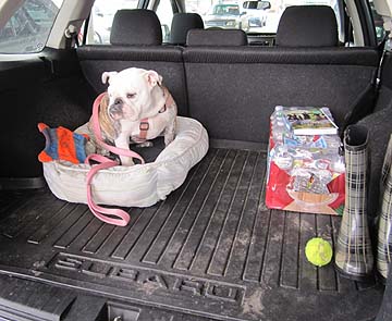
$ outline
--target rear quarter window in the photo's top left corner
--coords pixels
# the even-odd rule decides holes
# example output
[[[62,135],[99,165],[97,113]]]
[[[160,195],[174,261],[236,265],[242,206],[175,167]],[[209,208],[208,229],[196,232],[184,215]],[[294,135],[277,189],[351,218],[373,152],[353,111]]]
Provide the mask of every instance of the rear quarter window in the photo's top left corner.
[[[62,0],[26,0],[0,29],[0,53],[44,49]]]

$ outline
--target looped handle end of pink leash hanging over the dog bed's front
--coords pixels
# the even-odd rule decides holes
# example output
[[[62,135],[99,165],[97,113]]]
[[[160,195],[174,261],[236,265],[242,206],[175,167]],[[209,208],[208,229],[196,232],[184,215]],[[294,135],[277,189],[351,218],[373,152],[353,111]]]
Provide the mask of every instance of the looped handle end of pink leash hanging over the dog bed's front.
[[[93,200],[93,192],[91,192],[93,176],[98,171],[109,169],[112,166],[117,166],[119,163],[117,161],[106,158],[105,156],[96,155],[96,153],[89,155],[86,158],[85,163],[89,163],[90,160],[95,160],[95,161],[99,162],[99,164],[93,165],[87,174],[88,208],[90,209],[93,214],[96,215],[99,220],[101,220],[106,223],[109,223],[109,224],[113,224],[113,225],[118,225],[118,226],[125,226],[130,222],[130,214],[121,209],[108,209],[108,208],[103,208],[103,207],[96,205]],[[115,217],[117,219],[110,218],[107,215]]]

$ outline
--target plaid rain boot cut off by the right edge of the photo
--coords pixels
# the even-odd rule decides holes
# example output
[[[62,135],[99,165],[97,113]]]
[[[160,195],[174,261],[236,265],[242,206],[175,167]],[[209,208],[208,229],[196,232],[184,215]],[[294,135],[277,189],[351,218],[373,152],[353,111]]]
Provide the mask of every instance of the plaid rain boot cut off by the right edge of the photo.
[[[388,266],[391,262],[392,250],[392,136],[388,143],[385,158],[381,171],[382,195],[381,211],[378,222],[378,244],[377,244],[377,270],[387,279]]]

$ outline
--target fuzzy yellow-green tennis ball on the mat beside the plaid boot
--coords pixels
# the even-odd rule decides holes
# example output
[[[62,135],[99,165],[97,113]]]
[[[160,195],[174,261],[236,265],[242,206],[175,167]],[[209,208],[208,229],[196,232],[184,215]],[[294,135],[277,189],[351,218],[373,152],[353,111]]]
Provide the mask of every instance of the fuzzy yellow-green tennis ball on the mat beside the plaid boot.
[[[327,266],[332,259],[332,247],[321,237],[314,237],[306,244],[305,255],[311,264]]]

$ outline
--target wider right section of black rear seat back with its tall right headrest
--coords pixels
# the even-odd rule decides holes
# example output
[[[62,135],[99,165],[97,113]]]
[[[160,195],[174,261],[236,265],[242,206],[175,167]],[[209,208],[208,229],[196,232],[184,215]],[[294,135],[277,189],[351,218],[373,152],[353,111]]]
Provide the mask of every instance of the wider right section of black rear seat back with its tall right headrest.
[[[305,15],[315,13],[317,21],[306,18],[302,9]],[[274,48],[185,48],[191,116],[204,123],[213,138],[261,143],[268,143],[269,115],[278,104],[327,106],[342,124],[375,79],[378,52],[336,47],[331,11],[323,7],[290,9],[281,18]],[[301,25],[298,36],[290,28],[292,22]]]

